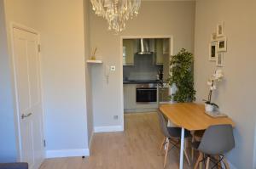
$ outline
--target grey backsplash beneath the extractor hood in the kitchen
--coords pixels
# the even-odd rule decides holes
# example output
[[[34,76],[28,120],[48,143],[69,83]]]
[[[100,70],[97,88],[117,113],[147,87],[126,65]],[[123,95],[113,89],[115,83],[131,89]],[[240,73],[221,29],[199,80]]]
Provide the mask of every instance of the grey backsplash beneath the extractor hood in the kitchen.
[[[155,65],[154,54],[135,54],[134,65],[124,66],[125,80],[155,80],[163,65]]]

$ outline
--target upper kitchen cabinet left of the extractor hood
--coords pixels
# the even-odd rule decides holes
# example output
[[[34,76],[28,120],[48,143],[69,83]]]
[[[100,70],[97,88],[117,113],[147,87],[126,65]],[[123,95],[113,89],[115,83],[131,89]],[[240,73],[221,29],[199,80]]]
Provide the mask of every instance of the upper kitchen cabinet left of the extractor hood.
[[[134,54],[136,53],[137,42],[134,39],[123,40],[123,65],[134,65]]]

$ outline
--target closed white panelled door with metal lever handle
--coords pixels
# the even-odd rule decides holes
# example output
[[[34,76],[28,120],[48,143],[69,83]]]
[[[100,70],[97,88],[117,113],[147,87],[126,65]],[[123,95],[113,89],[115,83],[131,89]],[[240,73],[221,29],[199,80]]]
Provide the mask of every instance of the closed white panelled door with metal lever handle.
[[[20,160],[28,162],[30,169],[38,169],[44,161],[38,35],[17,28],[13,35]]]

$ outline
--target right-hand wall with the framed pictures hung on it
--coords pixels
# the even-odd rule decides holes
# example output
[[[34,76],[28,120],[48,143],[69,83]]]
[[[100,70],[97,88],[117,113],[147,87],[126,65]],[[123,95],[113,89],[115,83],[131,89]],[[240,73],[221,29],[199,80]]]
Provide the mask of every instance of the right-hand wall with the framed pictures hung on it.
[[[236,123],[236,148],[228,160],[236,168],[253,168],[256,97],[256,2],[254,0],[198,0],[195,14],[195,89],[198,102],[207,98],[207,79],[216,69],[208,61],[210,35],[224,21],[228,52],[224,54],[224,82],[213,101]],[[255,166],[254,166],[255,168]]]

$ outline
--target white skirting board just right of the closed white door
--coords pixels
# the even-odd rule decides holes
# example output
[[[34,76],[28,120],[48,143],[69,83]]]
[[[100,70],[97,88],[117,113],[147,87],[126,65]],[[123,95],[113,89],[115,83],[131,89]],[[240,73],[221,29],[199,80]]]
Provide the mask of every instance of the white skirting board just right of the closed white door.
[[[46,158],[90,156],[89,149],[60,149],[46,150]]]

